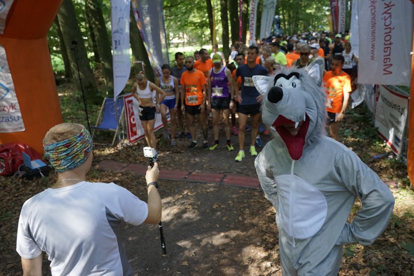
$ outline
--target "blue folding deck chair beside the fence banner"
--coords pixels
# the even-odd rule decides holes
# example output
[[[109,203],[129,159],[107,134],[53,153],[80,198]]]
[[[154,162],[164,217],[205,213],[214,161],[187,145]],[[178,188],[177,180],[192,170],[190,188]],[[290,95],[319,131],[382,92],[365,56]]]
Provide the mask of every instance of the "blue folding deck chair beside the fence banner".
[[[102,112],[104,111],[104,117],[102,118]],[[123,97],[117,99],[117,112],[115,113],[115,101],[112,98],[105,98],[101,106],[101,111],[99,112],[98,119],[96,120],[95,126],[91,126],[92,138],[95,134],[95,130],[109,130],[114,131],[114,138],[112,139],[111,146],[114,145],[115,139],[122,123],[122,118],[124,114],[123,106]],[[98,126],[99,124],[99,126]],[[99,143],[95,143],[99,144]],[[102,144],[102,143],[101,143]]]

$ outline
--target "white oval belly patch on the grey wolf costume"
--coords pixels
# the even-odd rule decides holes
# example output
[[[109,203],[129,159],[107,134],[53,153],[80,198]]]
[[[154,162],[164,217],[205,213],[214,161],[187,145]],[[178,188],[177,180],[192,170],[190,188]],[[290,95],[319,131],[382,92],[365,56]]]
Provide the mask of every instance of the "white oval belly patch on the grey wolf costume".
[[[314,236],[325,223],[328,203],[325,196],[306,180],[296,175],[275,177],[278,194],[279,227],[295,239]]]

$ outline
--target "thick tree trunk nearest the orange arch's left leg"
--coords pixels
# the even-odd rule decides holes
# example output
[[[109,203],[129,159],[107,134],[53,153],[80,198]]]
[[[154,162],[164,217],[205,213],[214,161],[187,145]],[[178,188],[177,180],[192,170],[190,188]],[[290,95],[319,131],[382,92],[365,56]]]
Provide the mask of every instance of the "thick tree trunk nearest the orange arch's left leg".
[[[73,72],[77,88],[84,91],[86,100],[89,103],[101,104],[103,99],[102,97],[97,97],[98,88],[87,59],[85,43],[79,29],[72,1],[63,0],[57,14],[69,56],[70,69]],[[78,73],[80,77],[78,77]]]

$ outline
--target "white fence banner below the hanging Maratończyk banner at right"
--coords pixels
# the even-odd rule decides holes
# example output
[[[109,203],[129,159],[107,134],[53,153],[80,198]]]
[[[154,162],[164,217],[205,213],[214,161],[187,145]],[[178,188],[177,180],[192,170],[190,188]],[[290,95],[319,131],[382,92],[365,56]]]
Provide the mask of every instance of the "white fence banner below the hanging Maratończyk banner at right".
[[[378,134],[387,141],[399,157],[404,141],[404,129],[408,117],[408,96],[401,95],[387,86],[377,86],[375,126]]]

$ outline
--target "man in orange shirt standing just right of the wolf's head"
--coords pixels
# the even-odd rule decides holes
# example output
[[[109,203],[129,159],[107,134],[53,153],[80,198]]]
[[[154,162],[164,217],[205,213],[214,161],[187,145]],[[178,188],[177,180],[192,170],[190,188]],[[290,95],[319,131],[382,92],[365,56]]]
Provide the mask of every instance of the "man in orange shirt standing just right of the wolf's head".
[[[324,77],[323,82],[328,94],[327,111],[329,120],[329,133],[338,141],[338,124],[344,119],[346,106],[348,105],[351,90],[351,78],[342,70],[345,59],[342,55],[332,56],[331,67]]]

